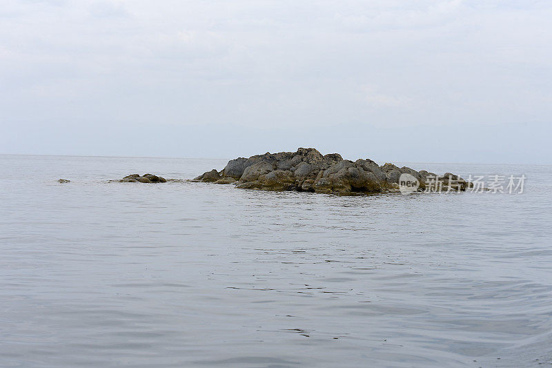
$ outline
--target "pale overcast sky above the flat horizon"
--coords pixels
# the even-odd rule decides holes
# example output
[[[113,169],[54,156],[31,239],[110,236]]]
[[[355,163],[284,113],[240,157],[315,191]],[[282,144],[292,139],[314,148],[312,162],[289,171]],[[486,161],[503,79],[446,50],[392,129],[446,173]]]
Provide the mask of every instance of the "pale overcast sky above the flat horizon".
[[[0,153],[552,162],[552,1],[8,0]]]

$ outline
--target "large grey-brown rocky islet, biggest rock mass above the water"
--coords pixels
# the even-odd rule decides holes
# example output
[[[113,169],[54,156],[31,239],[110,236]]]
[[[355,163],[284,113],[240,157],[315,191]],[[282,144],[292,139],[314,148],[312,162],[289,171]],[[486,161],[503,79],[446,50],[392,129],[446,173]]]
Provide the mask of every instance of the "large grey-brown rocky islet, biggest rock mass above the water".
[[[337,153],[322,155],[315,148],[239,157],[230,160],[223,170],[213,169],[199,175],[193,182],[234,183],[237,188],[270,191],[385,193],[399,190],[398,183],[404,173],[412,175],[419,182],[418,191],[426,190],[433,178],[442,180],[441,188],[445,189],[454,186],[455,190],[465,191],[471,184],[452,173],[437,176],[406,166],[378,166],[371,159],[357,159],[353,162]]]

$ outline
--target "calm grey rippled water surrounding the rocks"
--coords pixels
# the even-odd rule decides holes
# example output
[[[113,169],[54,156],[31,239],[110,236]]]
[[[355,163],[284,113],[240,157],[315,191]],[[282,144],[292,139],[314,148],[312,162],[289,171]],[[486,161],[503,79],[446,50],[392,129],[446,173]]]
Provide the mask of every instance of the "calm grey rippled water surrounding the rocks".
[[[522,194],[107,182],[226,161],[0,155],[0,366],[552,362],[552,166],[408,164]]]

